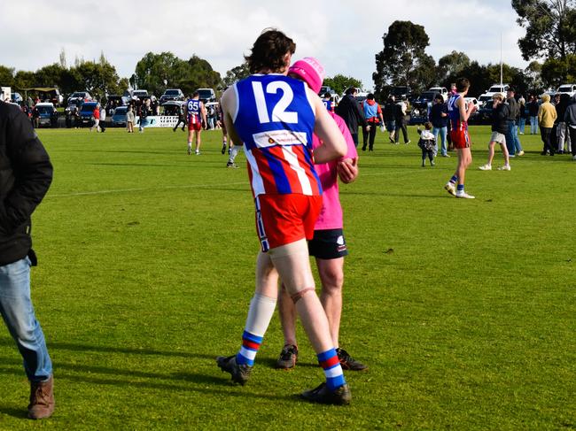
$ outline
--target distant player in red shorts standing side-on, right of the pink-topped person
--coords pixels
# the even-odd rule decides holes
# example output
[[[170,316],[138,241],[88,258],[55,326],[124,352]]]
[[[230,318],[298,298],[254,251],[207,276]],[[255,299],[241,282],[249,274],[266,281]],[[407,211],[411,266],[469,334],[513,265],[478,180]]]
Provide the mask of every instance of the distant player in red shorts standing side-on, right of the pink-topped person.
[[[459,78],[456,81],[456,93],[448,99],[448,118],[450,119],[450,137],[458,153],[458,166],[452,178],[446,183],[444,189],[450,195],[474,199],[464,191],[464,175],[466,169],[472,163],[471,140],[468,135],[468,119],[471,113],[476,110],[472,102],[466,104],[464,97],[470,89],[470,81],[466,78]],[[457,183],[457,186],[456,186]]]

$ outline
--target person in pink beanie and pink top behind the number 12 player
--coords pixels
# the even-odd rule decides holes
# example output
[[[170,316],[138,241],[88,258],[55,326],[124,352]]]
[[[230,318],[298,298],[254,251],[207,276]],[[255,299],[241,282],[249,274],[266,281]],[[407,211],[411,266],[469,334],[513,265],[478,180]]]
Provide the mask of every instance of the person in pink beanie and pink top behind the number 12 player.
[[[323,83],[324,69],[315,58],[302,58],[288,70],[292,78],[305,81],[310,89],[317,93]],[[344,284],[344,257],[348,254],[343,233],[343,214],[339,198],[340,181],[349,183],[358,175],[358,153],[354,140],[344,119],[330,112],[342,135],[346,139],[348,152],[346,157],[329,163],[315,165],[323,189],[323,208],[316,220],[314,238],[308,242],[308,252],[314,256],[322,292],[320,300],[328,317],[332,342],[336,346],[340,365],[345,370],[361,371],[367,366],[352,358],[339,347],[340,316],[342,314],[342,286]],[[313,148],[320,145],[314,135]],[[296,341],[296,311],[284,286],[278,296],[278,312],[284,332],[284,348],[276,362],[281,369],[291,369],[298,360],[298,342]]]

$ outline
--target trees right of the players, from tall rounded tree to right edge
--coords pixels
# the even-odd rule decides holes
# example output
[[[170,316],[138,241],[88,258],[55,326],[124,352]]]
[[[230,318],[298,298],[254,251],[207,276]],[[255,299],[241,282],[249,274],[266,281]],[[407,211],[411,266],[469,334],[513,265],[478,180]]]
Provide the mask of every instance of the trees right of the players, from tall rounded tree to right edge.
[[[511,4],[518,25],[526,30],[518,47],[531,63],[525,69],[504,64],[503,81],[521,93],[576,81],[576,0],[512,0]],[[384,48],[376,54],[372,73],[380,99],[393,86],[420,92],[438,84],[448,87],[458,76],[471,81],[471,96],[479,96],[500,81],[500,64],[480,65],[463,52],[452,51],[436,64],[425,52],[430,39],[424,27],[411,21],[394,21],[382,40]],[[494,57],[498,54],[494,50]]]

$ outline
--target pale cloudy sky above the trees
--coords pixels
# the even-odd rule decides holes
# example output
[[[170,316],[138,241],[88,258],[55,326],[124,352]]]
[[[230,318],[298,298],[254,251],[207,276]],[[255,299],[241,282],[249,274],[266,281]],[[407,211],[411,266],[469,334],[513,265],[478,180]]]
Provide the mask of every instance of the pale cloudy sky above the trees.
[[[527,64],[518,50],[525,31],[510,0],[19,0],[4,2],[2,9],[0,65],[17,70],[57,62],[62,49],[68,64],[104,51],[129,77],[146,52],[171,51],[206,58],[224,75],[242,63],[263,28],[276,27],[296,42],[296,58],[316,57],[329,76],[353,76],[371,89],[374,56],[396,19],[424,26],[427,52],[436,60],[461,50],[481,64],[499,63],[502,35],[504,61]]]

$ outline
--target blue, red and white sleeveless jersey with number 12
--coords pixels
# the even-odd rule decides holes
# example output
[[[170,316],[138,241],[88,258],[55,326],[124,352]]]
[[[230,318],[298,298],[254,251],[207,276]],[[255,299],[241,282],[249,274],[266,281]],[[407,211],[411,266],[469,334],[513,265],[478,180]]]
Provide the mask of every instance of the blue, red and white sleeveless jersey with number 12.
[[[253,74],[234,90],[234,127],[244,142],[253,196],[322,195],[312,160],[315,113],[306,84],[282,74]]]

